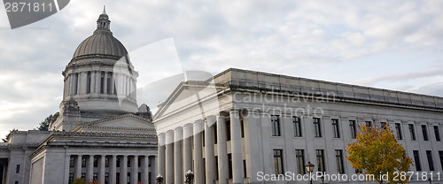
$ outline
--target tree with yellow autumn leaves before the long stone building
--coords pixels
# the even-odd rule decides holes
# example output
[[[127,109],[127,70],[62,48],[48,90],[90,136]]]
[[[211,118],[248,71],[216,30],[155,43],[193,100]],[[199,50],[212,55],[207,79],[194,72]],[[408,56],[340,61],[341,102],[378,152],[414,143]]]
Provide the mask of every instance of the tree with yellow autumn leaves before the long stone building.
[[[363,125],[360,133],[356,142],[350,143],[346,149],[346,159],[351,165],[364,174],[372,174],[380,184],[408,183],[409,177],[400,177],[400,173],[394,172],[408,173],[409,165],[413,165],[412,159],[397,142],[392,129],[389,126],[382,128]],[[394,177],[396,175],[399,177]]]

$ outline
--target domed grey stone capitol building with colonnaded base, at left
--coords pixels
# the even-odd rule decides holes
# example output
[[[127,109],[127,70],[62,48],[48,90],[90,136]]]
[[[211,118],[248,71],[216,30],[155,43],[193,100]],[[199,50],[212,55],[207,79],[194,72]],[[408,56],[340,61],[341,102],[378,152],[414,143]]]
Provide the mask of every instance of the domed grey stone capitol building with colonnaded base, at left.
[[[16,131],[0,145],[1,183],[153,183],[157,136],[138,73],[104,12],[63,71],[64,94],[49,131]]]

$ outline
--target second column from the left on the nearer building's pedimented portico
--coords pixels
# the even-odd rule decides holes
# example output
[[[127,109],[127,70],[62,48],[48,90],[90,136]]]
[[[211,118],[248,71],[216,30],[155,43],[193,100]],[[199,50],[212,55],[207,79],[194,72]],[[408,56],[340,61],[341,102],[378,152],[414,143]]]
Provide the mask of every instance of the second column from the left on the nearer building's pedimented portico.
[[[165,183],[174,183],[174,131],[168,130],[166,133],[166,176]]]

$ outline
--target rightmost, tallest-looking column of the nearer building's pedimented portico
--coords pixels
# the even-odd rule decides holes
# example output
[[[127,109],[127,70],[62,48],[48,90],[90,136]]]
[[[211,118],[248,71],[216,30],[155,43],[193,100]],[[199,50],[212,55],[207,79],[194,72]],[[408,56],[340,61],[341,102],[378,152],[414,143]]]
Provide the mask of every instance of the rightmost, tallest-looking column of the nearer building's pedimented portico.
[[[232,182],[243,183],[243,161],[242,161],[242,140],[240,136],[240,117],[238,110],[232,109],[230,112],[230,133],[232,152]]]

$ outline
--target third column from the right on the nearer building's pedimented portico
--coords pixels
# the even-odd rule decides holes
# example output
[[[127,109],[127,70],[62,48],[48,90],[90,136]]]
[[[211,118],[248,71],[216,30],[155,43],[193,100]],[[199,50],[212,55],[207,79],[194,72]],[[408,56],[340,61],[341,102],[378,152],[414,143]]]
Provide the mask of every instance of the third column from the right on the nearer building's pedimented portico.
[[[213,125],[215,117],[211,116],[205,122],[205,160],[206,160],[206,183],[214,183],[214,141]]]

